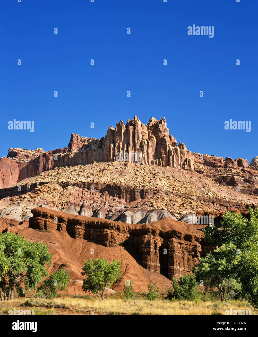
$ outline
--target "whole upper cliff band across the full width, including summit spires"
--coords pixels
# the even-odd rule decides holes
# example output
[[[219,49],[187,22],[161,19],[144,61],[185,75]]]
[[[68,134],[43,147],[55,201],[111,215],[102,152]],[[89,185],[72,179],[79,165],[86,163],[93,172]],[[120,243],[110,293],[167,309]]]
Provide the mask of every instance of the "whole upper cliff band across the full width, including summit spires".
[[[152,117],[148,124],[133,120],[109,127],[101,139],[71,134],[68,147],[44,152],[9,149],[7,158],[0,158],[0,188],[34,177],[53,167],[112,162],[117,159],[131,163],[183,168],[205,175],[221,185],[240,187],[240,192],[258,195],[257,157],[249,164],[246,159],[223,159],[214,155],[192,154],[177,142],[166,127],[165,118]],[[201,187],[200,187],[201,188]]]

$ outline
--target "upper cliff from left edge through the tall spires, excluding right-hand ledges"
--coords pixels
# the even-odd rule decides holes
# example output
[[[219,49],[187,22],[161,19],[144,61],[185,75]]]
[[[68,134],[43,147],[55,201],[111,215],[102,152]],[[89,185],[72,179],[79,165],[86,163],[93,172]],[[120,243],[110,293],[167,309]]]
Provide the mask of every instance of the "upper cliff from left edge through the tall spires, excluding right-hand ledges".
[[[120,154],[120,158],[119,155]],[[169,135],[165,118],[151,118],[147,125],[134,116],[133,120],[109,127],[101,139],[71,134],[68,147],[44,152],[9,149],[7,158],[0,158],[0,188],[9,187],[28,177],[34,177],[52,167],[108,162],[119,159],[128,162],[180,167],[193,170],[194,156],[185,145],[177,146]]]

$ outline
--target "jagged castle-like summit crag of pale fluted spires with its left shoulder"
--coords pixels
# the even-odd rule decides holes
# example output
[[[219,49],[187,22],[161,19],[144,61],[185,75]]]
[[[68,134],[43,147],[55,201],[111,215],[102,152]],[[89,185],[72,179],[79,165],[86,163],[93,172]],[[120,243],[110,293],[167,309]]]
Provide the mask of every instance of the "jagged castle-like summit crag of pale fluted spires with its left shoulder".
[[[118,160],[193,170],[194,163],[194,156],[186,146],[183,143],[177,146],[175,138],[169,135],[164,117],[160,121],[152,117],[145,125],[134,116],[126,124],[120,121],[115,128],[109,127],[106,137],[101,139],[85,139],[72,134],[70,149],[70,152],[58,156],[54,165]]]

